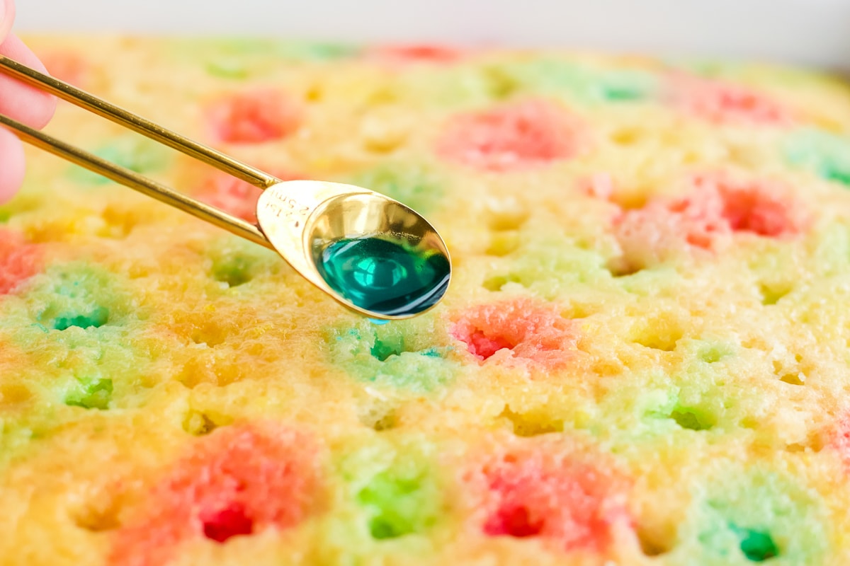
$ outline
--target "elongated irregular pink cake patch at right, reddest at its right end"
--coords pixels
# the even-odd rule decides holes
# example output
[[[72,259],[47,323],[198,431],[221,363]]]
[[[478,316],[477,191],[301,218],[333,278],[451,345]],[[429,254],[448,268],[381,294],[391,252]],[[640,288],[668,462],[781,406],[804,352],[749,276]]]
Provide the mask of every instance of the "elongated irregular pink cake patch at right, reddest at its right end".
[[[633,267],[676,250],[717,250],[733,233],[788,238],[808,227],[806,207],[775,182],[740,182],[723,175],[694,177],[684,197],[652,199],[615,220],[615,236]]]

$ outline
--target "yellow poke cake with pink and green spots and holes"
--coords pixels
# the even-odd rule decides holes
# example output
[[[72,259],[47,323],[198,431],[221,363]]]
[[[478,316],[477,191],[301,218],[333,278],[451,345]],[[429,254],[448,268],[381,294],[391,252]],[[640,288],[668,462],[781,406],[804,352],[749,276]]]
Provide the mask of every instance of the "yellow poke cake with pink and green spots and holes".
[[[28,150],[0,206],[0,563],[850,563],[850,89],[555,50],[31,36],[55,76],[445,238],[376,324]],[[258,189],[60,105],[245,218]]]

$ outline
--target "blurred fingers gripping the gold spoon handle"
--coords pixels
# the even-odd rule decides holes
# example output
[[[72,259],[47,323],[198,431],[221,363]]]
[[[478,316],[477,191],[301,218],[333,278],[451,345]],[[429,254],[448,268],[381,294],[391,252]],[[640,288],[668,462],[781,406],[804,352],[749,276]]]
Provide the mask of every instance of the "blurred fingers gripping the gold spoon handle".
[[[14,0],[0,0],[0,55],[46,72],[35,53],[10,33],[13,21]],[[53,117],[54,109],[54,97],[0,75],[0,114],[41,128]],[[23,179],[23,145],[12,132],[0,127],[0,203],[12,198]]]

